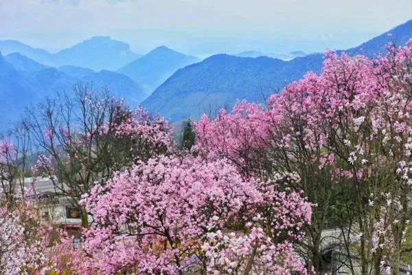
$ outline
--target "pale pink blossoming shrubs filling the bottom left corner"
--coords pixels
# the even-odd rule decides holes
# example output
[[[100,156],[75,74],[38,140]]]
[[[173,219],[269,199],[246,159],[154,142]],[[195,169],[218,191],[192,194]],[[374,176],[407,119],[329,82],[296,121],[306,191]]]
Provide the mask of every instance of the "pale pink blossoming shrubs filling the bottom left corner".
[[[93,274],[71,239],[42,220],[36,203],[0,207],[0,274]]]

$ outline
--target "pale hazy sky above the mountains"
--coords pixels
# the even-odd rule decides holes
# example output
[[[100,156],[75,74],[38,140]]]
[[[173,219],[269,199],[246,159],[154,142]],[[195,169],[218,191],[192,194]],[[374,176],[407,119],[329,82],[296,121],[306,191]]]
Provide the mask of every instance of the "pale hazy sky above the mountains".
[[[0,0],[0,39],[56,52],[91,36],[205,56],[356,46],[412,18],[412,0]]]

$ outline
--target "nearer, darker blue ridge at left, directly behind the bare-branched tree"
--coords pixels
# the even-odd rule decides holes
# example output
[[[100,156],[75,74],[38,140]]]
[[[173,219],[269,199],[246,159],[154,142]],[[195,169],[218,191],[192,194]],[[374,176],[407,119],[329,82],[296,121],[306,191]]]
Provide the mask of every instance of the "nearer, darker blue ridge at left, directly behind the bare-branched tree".
[[[149,96],[149,91],[124,74],[75,66],[47,67],[21,54],[0,53],[0,109],[3,110],[0,130],[19,119],[29,104],[36,104],[57,92],[71,93],[78,82],[93,83],[96,89],[108,87],[115,98],[124,98],[136,106]]]

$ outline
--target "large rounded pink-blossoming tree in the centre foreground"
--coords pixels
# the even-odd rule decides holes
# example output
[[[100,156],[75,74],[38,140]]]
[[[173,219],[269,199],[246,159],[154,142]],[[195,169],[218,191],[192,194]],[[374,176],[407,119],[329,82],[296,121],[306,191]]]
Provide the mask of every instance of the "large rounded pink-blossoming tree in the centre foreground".
[[[262,263],[268,271],[303,272],[290,242],[304,236],[310,204],[275,181],[245,181],[225,159],[150,159],[95,186],[84,202],[94,217],[85,233],[89,265],[106,274],[183,274],[192,261],[204,272],[238,265],[230,274],[240,274],[252,265],[249,274],[260,274]],[[212,236],[229,241],[222,234],[249,240],[243,256],[254,251],[253,259],[233,256],[233,238],[216,245]],[[216,265],[216,253],[227,257],[225,265]]]

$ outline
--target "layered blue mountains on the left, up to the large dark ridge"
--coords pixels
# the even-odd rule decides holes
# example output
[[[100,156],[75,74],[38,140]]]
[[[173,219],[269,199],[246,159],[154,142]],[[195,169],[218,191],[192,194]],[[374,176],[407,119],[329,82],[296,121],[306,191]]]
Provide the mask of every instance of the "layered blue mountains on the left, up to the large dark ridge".
[[[96,89],[106,86],[113,96],[136,106],[176,69],[198,61],[165,46],[139,56],[126,43],[106,36],[95,36],[56,54],[19,41],[0,41],[0,50],[4,50],[0,52],[0,107],[7,110],[0,129],[17,120],[28,104],[57,92],[70,93],[78,82],[93,82]],[[137,81],[122,70],[113,72],[119,67]]]

